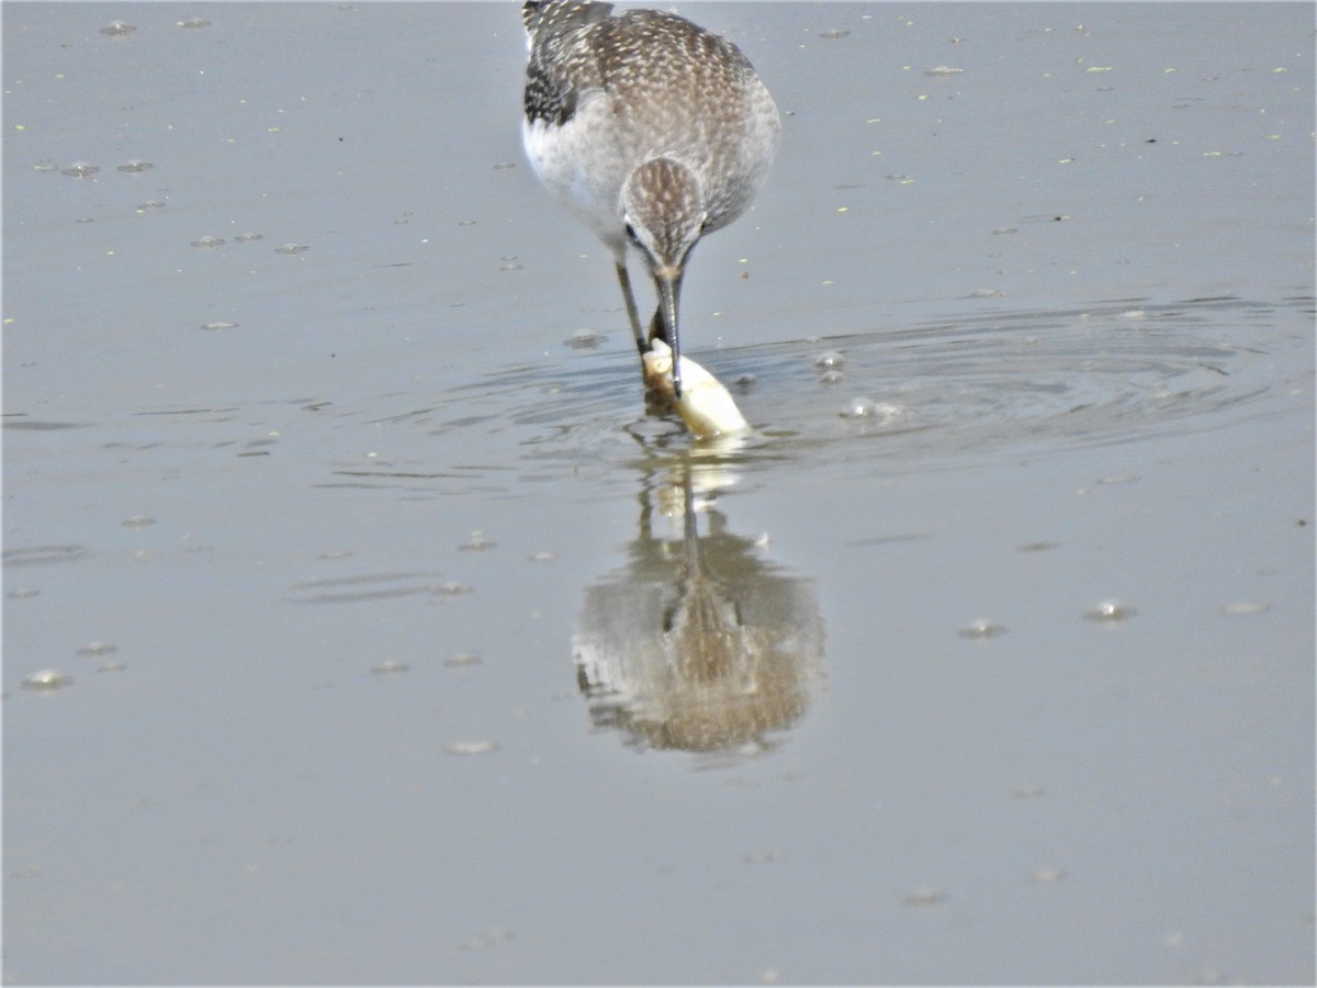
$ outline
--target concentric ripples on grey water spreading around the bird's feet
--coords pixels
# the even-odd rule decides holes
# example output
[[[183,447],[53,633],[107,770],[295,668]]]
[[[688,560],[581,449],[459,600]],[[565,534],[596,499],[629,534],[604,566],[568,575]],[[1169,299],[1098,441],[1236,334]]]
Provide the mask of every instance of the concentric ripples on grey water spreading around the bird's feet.
[[[1113,302],[1001,312],[699,354],[756,427],[747,457],[863,444],[909,461],[1047,454],[1222,428],[1288,407],[1309,365],[1312,299]],[[820,379],[819,361],[840,378]],[[510,368],[469,386],[471,427],[531,427],[531,457],[615,458],[690,441],[647,419],[630,352]],[[1277,369],[1283,373],[1277,373]],[[1289,379],[1287,375],[1292,375]],[[502,407],[498,407],[502,406]],[[882,414],[860,414],[877,410]],[[849,454],[848,454],[849,456]]]

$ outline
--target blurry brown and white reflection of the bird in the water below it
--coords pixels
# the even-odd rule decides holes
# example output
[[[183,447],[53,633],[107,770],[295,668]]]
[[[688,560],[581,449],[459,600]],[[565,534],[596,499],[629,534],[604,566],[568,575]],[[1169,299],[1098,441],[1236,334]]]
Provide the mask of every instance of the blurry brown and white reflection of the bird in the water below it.
[[[586,591],[577,681],[599,727],[639,748],[749,752],[809,705],[823,622],[809,580],[760,557],[711,503],[726,462],[690,454],[647,477],[622,572]],[[681,519],[665,539],[656,523]],[[699,534],[701,518],[707,531]]]

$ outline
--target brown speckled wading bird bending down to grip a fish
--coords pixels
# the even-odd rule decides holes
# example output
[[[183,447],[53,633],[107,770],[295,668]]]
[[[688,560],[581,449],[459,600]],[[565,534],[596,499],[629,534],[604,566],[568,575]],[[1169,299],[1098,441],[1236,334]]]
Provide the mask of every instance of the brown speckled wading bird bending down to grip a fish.
[[[527,0],[525,153],[540,182],[612,252],[636,346],[662,339],[681,395],[677,312],[699,238],[735,220],[777,151],[777,105],[730,41],[658,11]],[[627,249],[658,294],[640,328]]]

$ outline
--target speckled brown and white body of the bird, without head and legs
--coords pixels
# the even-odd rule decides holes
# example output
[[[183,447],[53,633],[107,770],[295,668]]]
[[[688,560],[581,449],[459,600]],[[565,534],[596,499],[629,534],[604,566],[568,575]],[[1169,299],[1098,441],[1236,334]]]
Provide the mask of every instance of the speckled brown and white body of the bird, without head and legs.
[[[777,150],[772,96],[735,45],[690,21],[657,11],[610,14],[608,4],[576,0],[523,8],[536,171],[606,241],[623,182],[656,157],[695,174],[706,232],[731,223]]]

